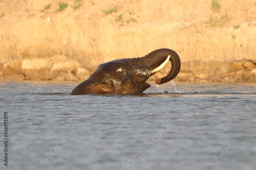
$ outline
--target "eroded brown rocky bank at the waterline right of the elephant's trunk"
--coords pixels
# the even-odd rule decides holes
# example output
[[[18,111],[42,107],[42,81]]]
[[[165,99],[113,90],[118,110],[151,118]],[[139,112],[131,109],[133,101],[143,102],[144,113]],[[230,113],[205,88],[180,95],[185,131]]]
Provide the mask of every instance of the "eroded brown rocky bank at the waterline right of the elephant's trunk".
[[[211,68],[210,66],[215,66]],[[185,82],[256,82],[254,72],[256,64],[251,60],[239,60],[228,63],[202,63],[205,68],[181,68],[180,74],[177,76],[178,81]],[[189,66],[186,66],[189,68]],[[190,66],[191,68],[191,66]]]

